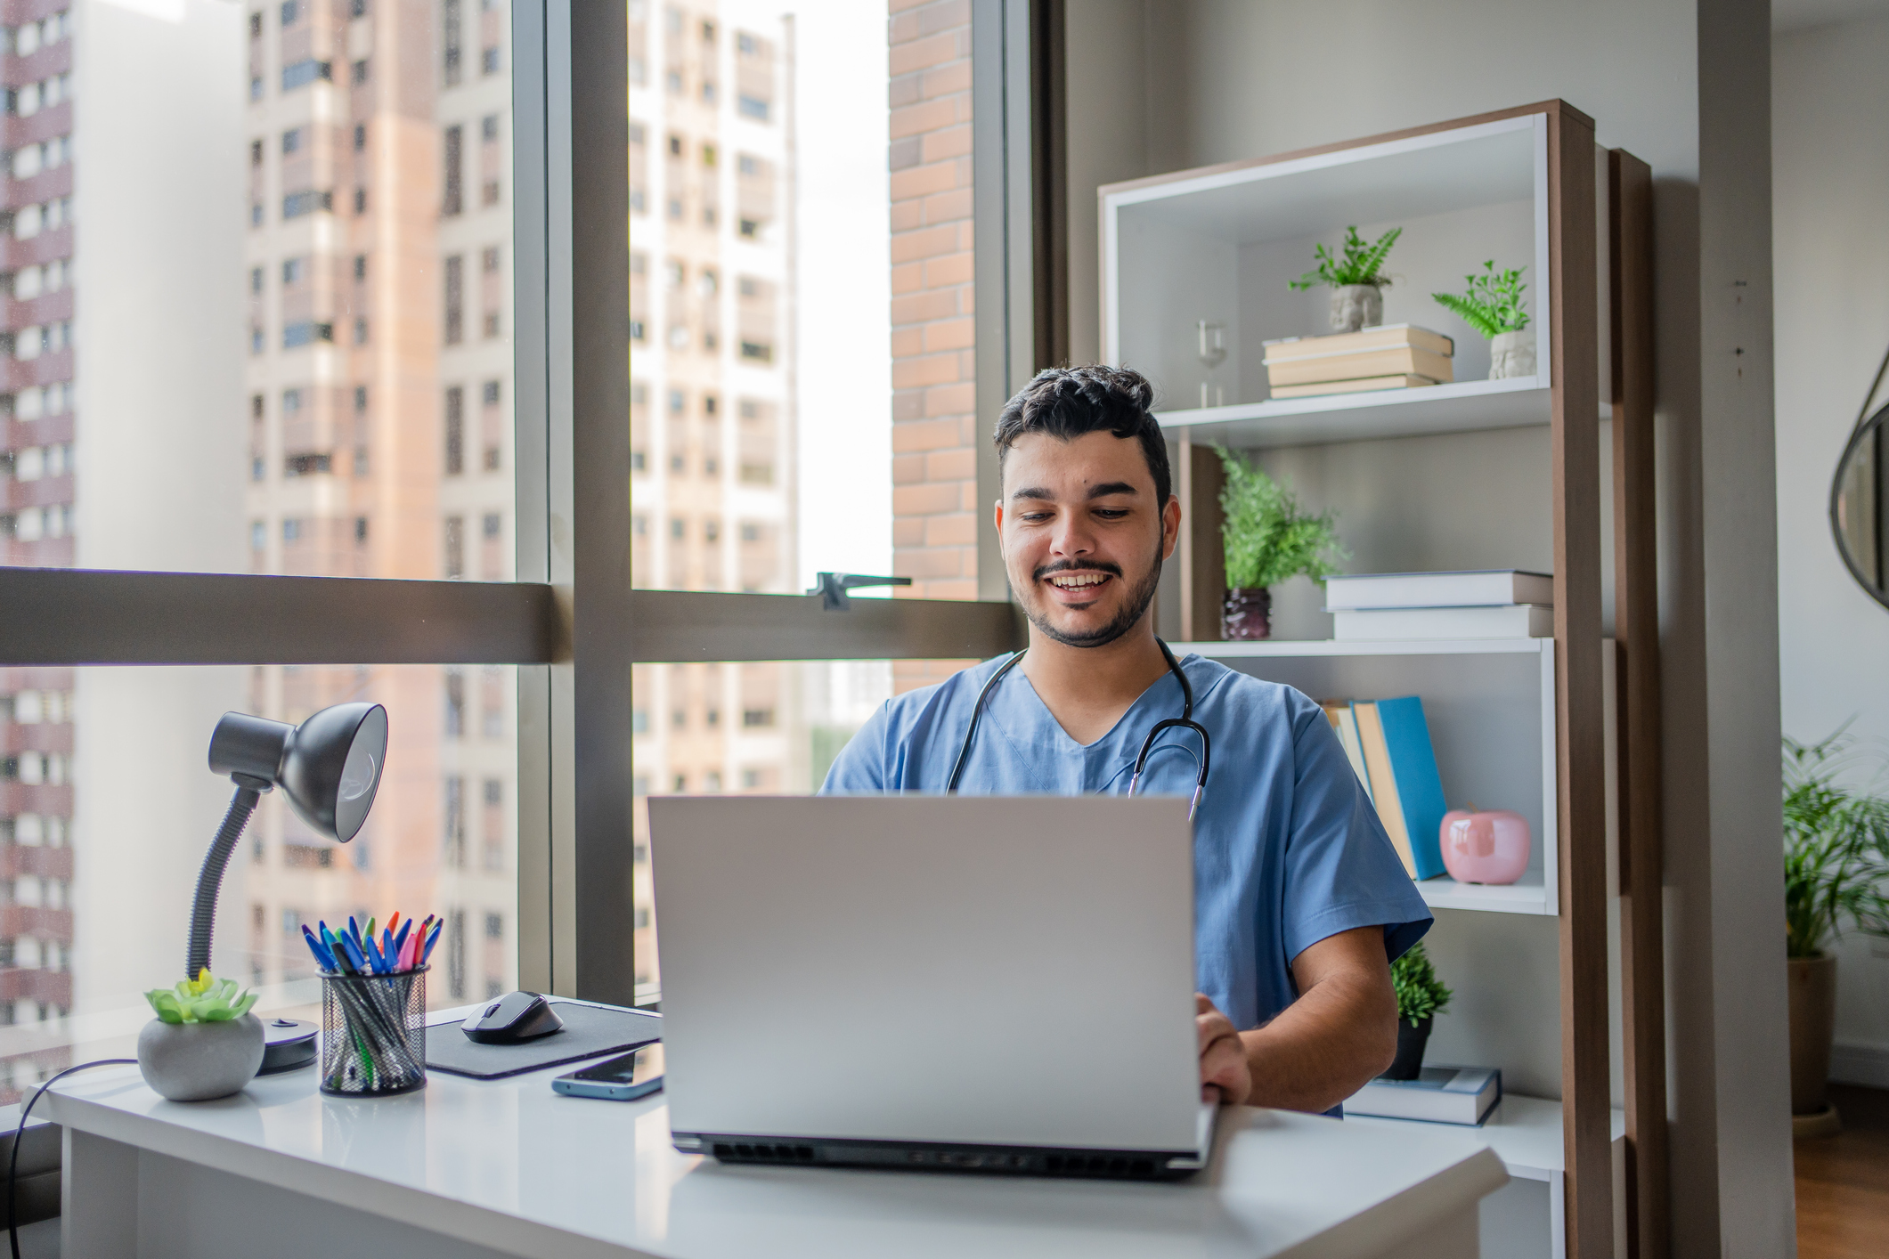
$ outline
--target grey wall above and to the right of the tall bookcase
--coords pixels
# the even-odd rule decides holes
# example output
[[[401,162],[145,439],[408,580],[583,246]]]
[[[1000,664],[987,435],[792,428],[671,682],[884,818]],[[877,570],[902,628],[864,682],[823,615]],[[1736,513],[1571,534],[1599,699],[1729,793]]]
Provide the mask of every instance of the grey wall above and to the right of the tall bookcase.
[[[1766,6],[1147,0],[1139,23],[1122,9],[1069,6],[1071,28],[1115,23],[1067,42],[1075,359],[1098,349],[1088,177],[1262,157],[1555,96],[1596,119],[1602,145],[1651,164],[1674,1253],[1789,1253]],[[1135,53],[1139,113],[1122,100]],[[1115,153],[1101,126],[1122,128]],[[1436,466],[1447,451],[1434,444],[1426,459],[1411,451],[1409,466]],[[1536,476],[1526,442],[1513,459],[1517,476]],[[1504,521],[1492,515],[1489,527]]]

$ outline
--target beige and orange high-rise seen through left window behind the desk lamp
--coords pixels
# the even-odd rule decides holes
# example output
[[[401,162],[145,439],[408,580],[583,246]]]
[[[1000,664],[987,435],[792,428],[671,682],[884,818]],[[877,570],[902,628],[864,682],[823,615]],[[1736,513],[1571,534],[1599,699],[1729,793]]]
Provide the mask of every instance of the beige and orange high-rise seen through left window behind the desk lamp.
[[[283,0],[247,13],[246,508],[255,572],[512,578],[510,21],[502,0]],[[302,923],[446,919],[429,997],[516,982],[514,670],[255,668],[287,721],[393,715],[349,846],[264,804],[251,980],[310,974]]]

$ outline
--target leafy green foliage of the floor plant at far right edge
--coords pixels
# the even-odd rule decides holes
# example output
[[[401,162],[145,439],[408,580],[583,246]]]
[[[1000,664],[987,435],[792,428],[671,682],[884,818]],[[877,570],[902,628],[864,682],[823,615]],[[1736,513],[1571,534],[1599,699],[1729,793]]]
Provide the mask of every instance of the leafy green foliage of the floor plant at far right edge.
[[[1853,740],[1783,740],[1783,927],[1789,957],[1821,957],[1853,925],[1889,936],[1889,798],[1838,781]]]

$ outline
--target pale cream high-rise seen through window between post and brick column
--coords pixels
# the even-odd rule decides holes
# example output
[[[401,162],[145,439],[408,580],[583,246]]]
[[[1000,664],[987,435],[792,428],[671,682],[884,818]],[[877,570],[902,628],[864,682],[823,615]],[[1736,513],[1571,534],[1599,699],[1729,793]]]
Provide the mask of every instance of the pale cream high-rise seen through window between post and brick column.
[[[754,9],[750,13],[750,9]],[[795,585],[793,25],[774,9],[629,4],[631,572],[637,585]],[[657,980],[650,793],[805,778],[803,670],[635,668],[637,980]]]

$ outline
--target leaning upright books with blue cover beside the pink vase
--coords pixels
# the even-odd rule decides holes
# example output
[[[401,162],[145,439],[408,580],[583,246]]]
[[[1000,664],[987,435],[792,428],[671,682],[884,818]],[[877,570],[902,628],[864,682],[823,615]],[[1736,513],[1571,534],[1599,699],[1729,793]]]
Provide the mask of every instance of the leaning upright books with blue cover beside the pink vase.
[[[1353,772],[1377,806],[1390,846],[1413,880],[1443,874],[1443,778],[1436,770],[1422,700],[1324,700]]]

